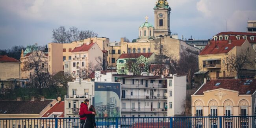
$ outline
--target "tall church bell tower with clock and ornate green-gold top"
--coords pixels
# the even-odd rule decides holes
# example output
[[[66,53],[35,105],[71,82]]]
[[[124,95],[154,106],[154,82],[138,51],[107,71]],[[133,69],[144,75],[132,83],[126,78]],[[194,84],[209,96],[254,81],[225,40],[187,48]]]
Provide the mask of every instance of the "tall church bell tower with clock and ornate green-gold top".
[[[167,0],[158,0],[156,2],[156,6],[154,7],[155,13],[155,37],[159,37],[160,35],[171,35],[170,30],[170,13],[171,7]]]

